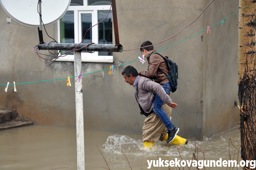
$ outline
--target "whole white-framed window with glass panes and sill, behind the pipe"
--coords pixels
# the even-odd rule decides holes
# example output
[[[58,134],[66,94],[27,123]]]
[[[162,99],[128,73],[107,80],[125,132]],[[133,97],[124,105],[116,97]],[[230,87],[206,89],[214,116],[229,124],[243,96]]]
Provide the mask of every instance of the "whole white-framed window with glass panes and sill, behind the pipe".
[[[86,31],[108,14],[111,0],[71,0],[68,11],[58,21],[58,42],[79,44]],[[107,18],[87,31],[82,44],[113,44],[112,11]],[[61,51],[61,54],[65,51]],[[82,61],[113,63],[112,52],[81,53]],[[74,61],[74,52],[56,61]]]

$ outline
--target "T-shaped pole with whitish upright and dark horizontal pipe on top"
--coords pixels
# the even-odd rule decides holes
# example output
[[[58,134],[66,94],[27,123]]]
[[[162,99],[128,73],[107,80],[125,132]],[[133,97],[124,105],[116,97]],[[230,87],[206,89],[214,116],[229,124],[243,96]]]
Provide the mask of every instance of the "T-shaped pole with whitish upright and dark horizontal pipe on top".
[[[78,44],[38,44],[39,50],[72,50]],[[82,58],[81,51],[86,51],[87,44],[80,44],[78,51],[74,51],[74,73],[79,76],[82,73]],[[89,51],[103,51],[103,52],[122,52],[123,46],[121,44],[90,44],[87,46]],[[75,101],[76,101],[76,149],[77,149],[77,168],[84,170],[84,123],[83,123],[83,86],[82,76],[80,81],[75,78]]]

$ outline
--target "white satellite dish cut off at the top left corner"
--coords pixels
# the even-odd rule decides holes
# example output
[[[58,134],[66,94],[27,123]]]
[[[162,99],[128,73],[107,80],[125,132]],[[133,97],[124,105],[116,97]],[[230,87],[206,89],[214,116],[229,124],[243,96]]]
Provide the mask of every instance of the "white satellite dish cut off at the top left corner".
[[[59,20],[68,10],[71,0],[42,0],[42,21],[50,25]],[[38,0],[0,0],[4,11],[17,22],[30,27],[39,27]]]

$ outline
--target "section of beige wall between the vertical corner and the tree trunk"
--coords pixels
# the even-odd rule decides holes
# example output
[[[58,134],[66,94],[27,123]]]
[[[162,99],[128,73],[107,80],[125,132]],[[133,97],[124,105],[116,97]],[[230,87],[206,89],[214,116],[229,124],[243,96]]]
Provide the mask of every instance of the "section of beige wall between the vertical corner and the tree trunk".
[[[207,1],[210,2],[210,1]],[[224,10],[228,7],[230,10]],[[237,1],[214,1],[204,13],[204,28],[238,11]],[[203,136],[238,126],[238,13],[204,32]]]

